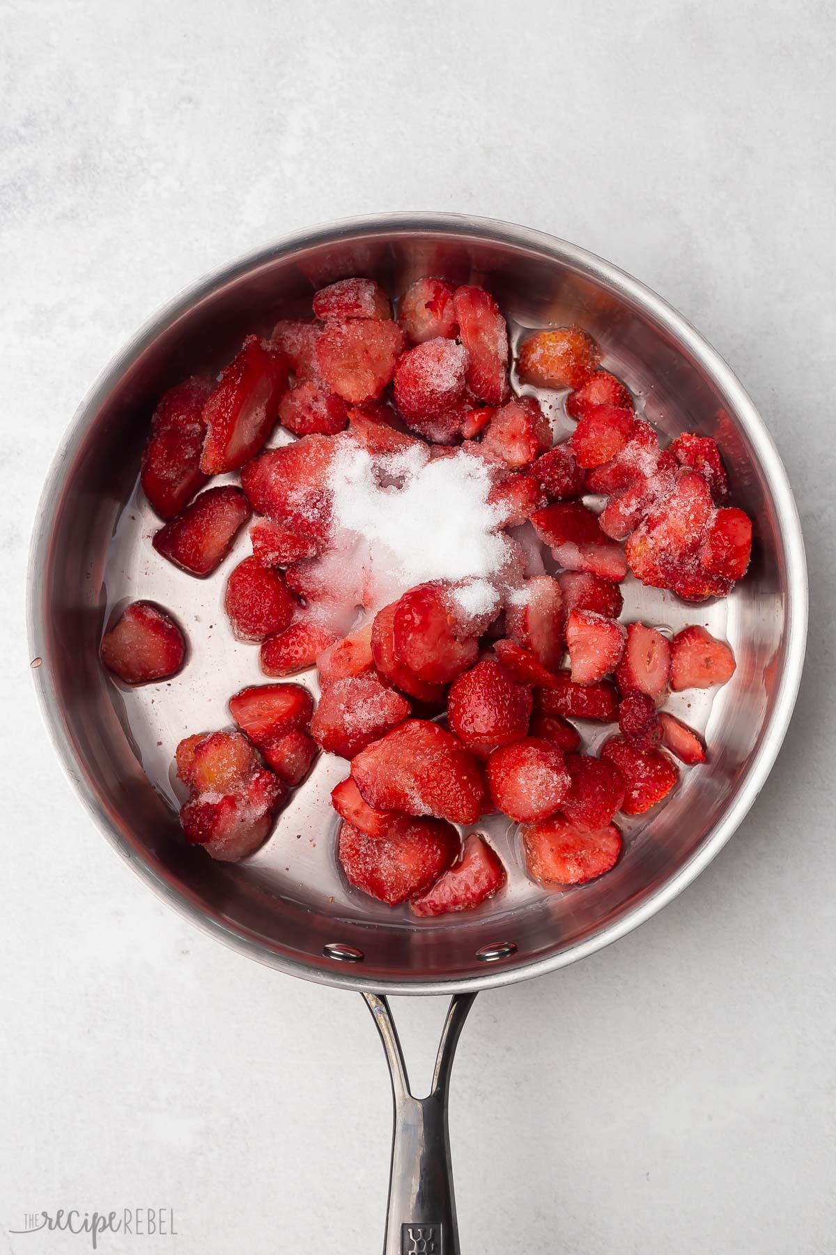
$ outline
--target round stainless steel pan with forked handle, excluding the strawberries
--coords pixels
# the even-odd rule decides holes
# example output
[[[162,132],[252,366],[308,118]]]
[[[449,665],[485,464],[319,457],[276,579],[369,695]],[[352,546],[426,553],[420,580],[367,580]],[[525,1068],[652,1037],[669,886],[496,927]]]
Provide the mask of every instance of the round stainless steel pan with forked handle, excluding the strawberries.
[[[175,571],[150,548],[155,521],[137,492],[139,452],[155,398],[182,376],[217,370],[243,334],[310,309],[325,282],[362,274],[392,291],[424,274],[483,281],[526,326],[578,321],[605,350],[645,414],[673,435],[717,437],[734,499],[755,520],[755,558],[728,601],[687,607],[628,581],[625,619],[672,630],[707,624],[732,643],[737,671],[713,702],[682,694],[707,732],[711,763],[686,774],[664,806],[625,828],[608,876],[544,892],[516,870],[471,915],[412,919],[361,897],[333,858],[328,792],[343,774],[323,758],[244,863],[216,863],[184,845],[169,774],[177,740],[228,722],[226,702],[258,679],[257,650],[236,645],[221,597],[231,563],[208,581]],[[548,398],[545,398],[548,400]],[[427,526],[431,543],[431,526]],[[168,685],[135,693],[102,670],[108,617],[129,597],[169,606],[191,658]],[[280,971],[361,990],[389,1059],[395,1096],[387,1255],[457,1251],[446,1094],[456,1040],[479,989],[550,971],[649,919],[709,862],[741,822],[775,762],[805,649],[803,543],[775,446],[718,354],[671,306],[608,262],[500,222],[389,215],[297,235],[202,280],[117,355],[80,405],[41,498],[30,567],[30,639],[46,723],[81,801],[115,850],[197,924]],[[595,737],[589,739],[594,747]],[[513,827],[491,840],[519,868]],[[385,995],[454,995],[434,1091],[409,1092]]]

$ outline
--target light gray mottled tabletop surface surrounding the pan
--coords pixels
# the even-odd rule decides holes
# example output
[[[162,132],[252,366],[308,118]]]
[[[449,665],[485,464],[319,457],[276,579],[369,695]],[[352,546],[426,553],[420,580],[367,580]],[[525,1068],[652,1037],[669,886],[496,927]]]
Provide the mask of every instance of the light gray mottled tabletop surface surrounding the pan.
[[[0,3],[0,1249],[88,1249],[8,1231],[128,1205],[172,1206],[178,1236],[104,1251],[379,1249],[367,1012],[227,951],[113,857],[41,729],[21,584],[53,449],[160,302],[286,231],[437,208],[584,245],[708,336],[785,458],[812,592],[739,835],[615,948],[479,998],[462,1249],[836,1251],[835,40],[823,0]],[[397,1010],[427,1072],[441,1005]]]

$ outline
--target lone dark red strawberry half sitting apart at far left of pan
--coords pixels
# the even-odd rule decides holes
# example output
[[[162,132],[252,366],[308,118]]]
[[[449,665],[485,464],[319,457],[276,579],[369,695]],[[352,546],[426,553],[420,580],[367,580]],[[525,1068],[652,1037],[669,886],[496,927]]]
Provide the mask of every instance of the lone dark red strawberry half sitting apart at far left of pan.
[[[185,638],[174,620],[150,601],[132,601],[102,638],[102,661],[125,684],[165,680],[179,671]]]

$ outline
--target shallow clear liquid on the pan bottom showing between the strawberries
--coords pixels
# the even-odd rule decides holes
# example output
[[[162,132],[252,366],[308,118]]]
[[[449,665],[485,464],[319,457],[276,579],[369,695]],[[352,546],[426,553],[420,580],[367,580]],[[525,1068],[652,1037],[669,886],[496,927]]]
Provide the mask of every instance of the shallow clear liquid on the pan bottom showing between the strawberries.
[[[513,340],[521,329],[511,328]],[[630,364],[618,353],[608,353],[603,365],[633,385],[637,408],[666,434],[676,434],[693,420],[688,414],[677,413],[671,398],[654,392],[639,392],[632,376]],[[564,439],[574,424],[567,418],[559,394],[519,389],[539,397],[551,417],[555,438]],[[272,443],[282,443],[285,433],[277,432]],[[237,476],[221,476],[213,483],[226,479],[236,482]],[[593,498],[588,503],[594,505]],[[114,532],[105,567],[107,612],[109,626],[128,601],[143,597],[167,607],[182,624],[189,640],[185,666],[172,680],[129,689],[118,686],[117,708],[125,733],[153,787],[175,812],[183,798],[183,788],[173,771],[177,743],[194,732],[208,732],[231,725],[227,703],[233,693],[247,684],[266,683],[258,665],[258,646],[236,641],[223,610],[223,591],[229,571],[249,553],[243,532],[233,552],[207,580],[197,580],[179,571],[152,547],[150,538],[160,526],[159,520],[144,498],[139,484],[123,510]],[[672,636],[686,624],[702,624],[732,648],[738,645],[734,595],[724,601],[704,605],[687,605],[671,592],[648,589],[632,575],[622,585],[624,596],[624,622],[640,619],[653,624]],[[316,671],[306,671],[291,679],[306,684],[318,695]],[[733,681],[732,681],[733,685]],[[712,729],[721,725],[723,704],[732,685],[714,692],[689,690],[671,694],[664,709],[683,718],[703,733],[711,753]],[[115,697],[115,693],[114,693]],[[612,735],[613,725],[578,720],[583,735],[583,749],[595,753],[600,743]],[[239,865],[239,873],[257,882],[261,889],[277,896],[300,901],[312,910],[327,911],[335,919],[386,919],[390,926],[437,926],[437,921],[416,920],[407,907],[394,910],[350,887],[341,875],[335,857],[335,836],[338,820],[331,808],[330,793],[347,774],[347,763],[331,754],[320,754],[313,771],[303,784],[293,791],[288,804],[280,813],[268,841]],[[699,768],[682,768],[679,792],[688,788],[688,776]],[[623,858],[640,847],[648,828],[666,803],[645,816],[617,822],[624,835]],[[174,827],[174,825],[173,825]],[[474,825],[474,831],[484,832],[503,858],[508,872],[508,885],[479,915],[491,912],[498,927],[511,912],[544,894],[562,892],[564,896],[583,894],[584,886],[568,890],[544,890],[531,882],[523,868],[519,850],[518,826],[505,817],[491,817]],[[207,855],[196,848],[194,858]],[[464,919],[462,919],[464,922]]]

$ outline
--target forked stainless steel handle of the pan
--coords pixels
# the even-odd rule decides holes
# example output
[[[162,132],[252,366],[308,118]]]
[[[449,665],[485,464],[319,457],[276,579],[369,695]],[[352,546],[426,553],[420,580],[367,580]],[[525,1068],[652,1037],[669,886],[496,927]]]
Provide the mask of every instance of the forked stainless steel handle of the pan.
[[[389,1001],[382,994],[363,994],[384,1043],[395,1103],[384,1255],[459,1255],[447,1096],[459,1034],[475,996],[451,999],[432,1088],[426,1098],[415,1098]]]

